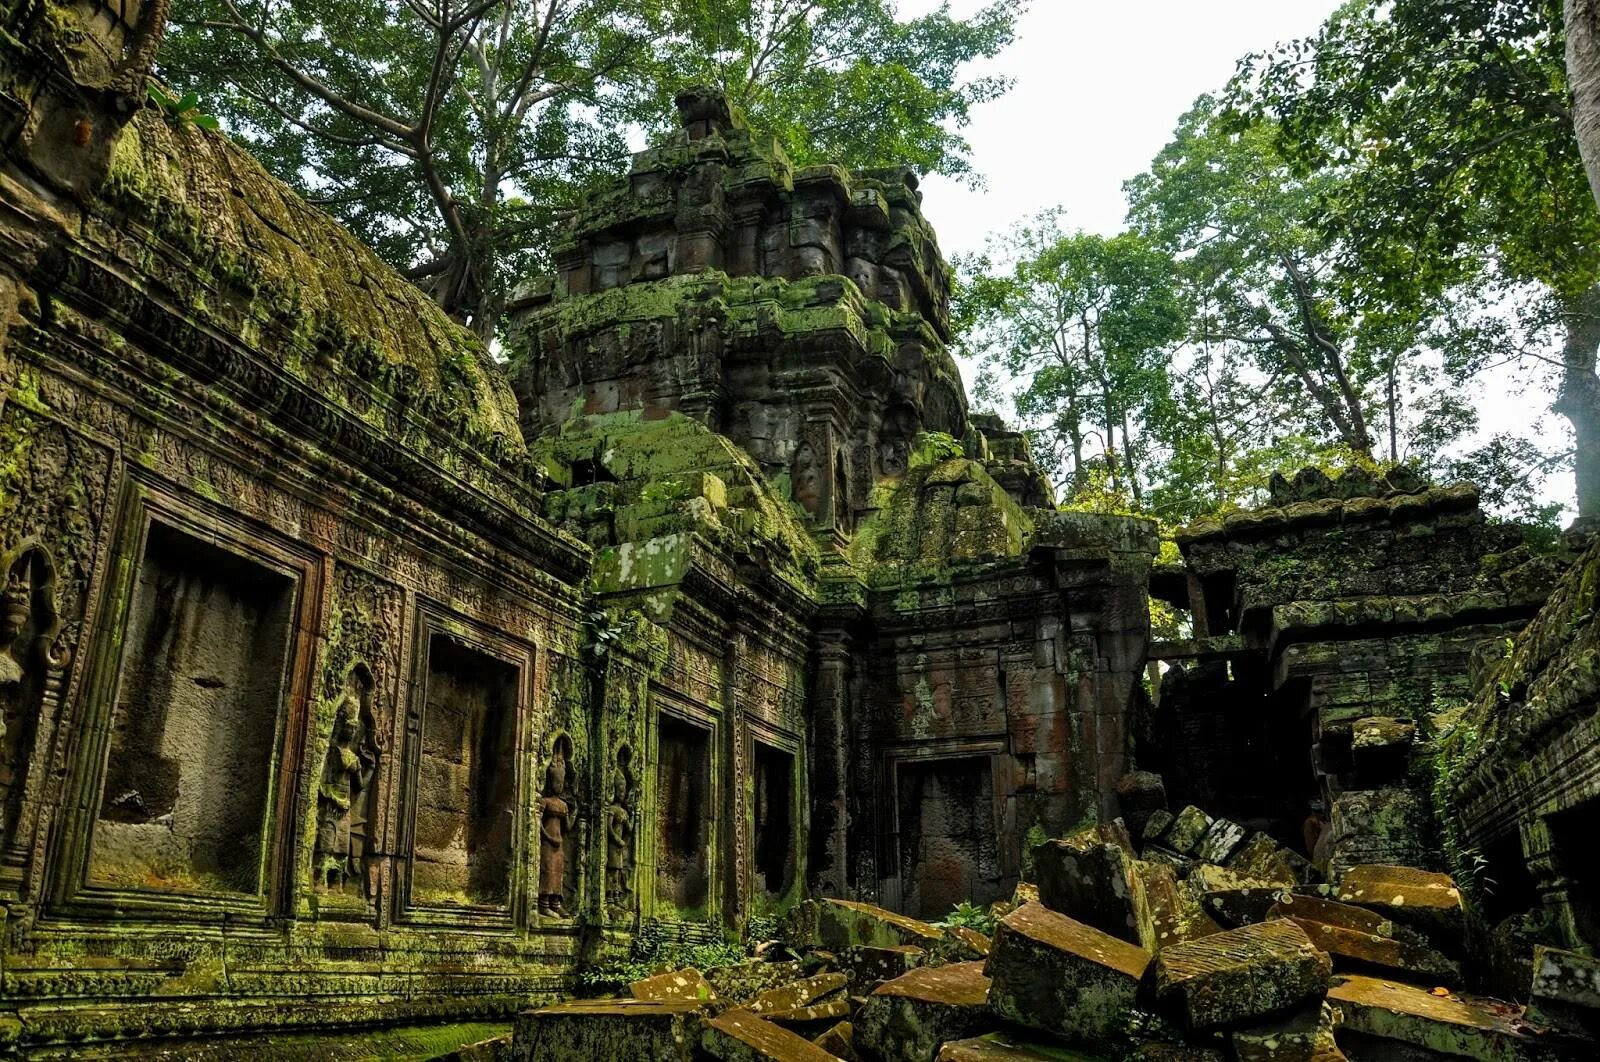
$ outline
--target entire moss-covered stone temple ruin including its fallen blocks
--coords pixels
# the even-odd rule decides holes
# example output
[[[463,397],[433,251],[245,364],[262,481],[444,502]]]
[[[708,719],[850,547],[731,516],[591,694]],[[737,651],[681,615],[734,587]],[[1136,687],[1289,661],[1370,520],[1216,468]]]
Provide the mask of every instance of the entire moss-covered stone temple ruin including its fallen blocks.
[[[966,409],[915,178],[706,91],[498,363],[163,18],[0,37],[0,1052],[1587,1057],[1592,549],[1390,470],[1157,561]]]

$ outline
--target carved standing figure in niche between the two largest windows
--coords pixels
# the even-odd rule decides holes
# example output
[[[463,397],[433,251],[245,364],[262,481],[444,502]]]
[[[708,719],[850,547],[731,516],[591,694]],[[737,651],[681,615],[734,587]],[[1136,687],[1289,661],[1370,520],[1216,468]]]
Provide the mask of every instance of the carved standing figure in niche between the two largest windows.
[[[363,664],[350,669],[344,696],[334,710],[333,736],[317,787],[317,883],[344,892],[350,881],[366,896],[373,776],[378,773],[378,739],[371,715],[371,673]]]

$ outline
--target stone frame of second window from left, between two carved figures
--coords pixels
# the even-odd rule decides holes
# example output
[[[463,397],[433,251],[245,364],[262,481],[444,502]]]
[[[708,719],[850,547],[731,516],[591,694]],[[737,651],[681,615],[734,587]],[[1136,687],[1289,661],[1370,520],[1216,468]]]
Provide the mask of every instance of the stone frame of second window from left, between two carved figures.
[[[470,616],[453,611],[442,601],[418,595],[413,616],[410,662],[402,693],[403,723],[398,731],[398,804],[395,808],[395,851],[390,859],[392,918],[397,924],[416,928],[478,929],[515,932],[530,923],[534,908],[531,889],[538,888],[538,820],[528,812],[530,785],[536,785],[533,758],[538,736],[533,715],[541,701],[538,688],[539,653],[534,641],[523,641]],[[416,843],[416,811],[422,757],[422,715],[427,710],[429,649],[434,635],[445,635],[462,646],[494,657],[517,669],[517,707],[512,737],[512,851],[510,881],[506,904],[458,907],[448,904],[414,904],[411,900],[411,851]],[[533,860],[530,864],[530,860]]]

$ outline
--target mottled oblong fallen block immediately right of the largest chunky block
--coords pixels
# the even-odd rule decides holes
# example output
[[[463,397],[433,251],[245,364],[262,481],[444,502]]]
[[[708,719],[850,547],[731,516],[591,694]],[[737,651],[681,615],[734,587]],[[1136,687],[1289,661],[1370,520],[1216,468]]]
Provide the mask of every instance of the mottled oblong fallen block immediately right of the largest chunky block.
[[[1154,974],[1157,998],[1190,1028],[1216,1028],[1322,998],[1330,964],[1299,926],[1277,918],[1165,948]]]

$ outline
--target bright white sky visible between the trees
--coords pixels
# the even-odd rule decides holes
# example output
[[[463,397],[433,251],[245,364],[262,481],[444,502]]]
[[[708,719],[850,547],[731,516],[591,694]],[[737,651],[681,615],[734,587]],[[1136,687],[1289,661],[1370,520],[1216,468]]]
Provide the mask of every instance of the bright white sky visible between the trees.
[[[902,18],[938,0],[901,0]],[[981,0],[952,0],[957,16]],[[984,240],[1050,206],[1069,227],[1110,235],[1122,227],[1122,182],[1144,171],[1197,96],[1222,88],[1240,58],[1306,37],[1338,0],[1032,0],[1018,40],[970,74],[1008,74],[1014,85],[976,107],[963,131],[984,187],[947,178],[923,181],[923,211],[947,256],[979,251]],[[963,365],[968,385],[974,366]],[[1565,433],[1544,411],[1544,385],[1522,390],[1502,377],[1480,381],[1477,405],[1486,437],[1501,430]],[[1533,422],[1538,421],[1538,422]],[[1562,443],[1565,445],[1565,443]],[[1546,485],[1571,504],[1571,473]]]

